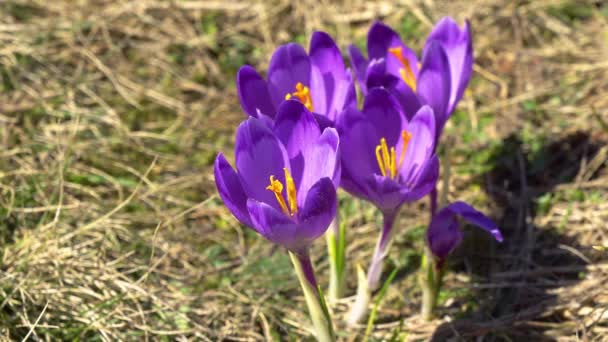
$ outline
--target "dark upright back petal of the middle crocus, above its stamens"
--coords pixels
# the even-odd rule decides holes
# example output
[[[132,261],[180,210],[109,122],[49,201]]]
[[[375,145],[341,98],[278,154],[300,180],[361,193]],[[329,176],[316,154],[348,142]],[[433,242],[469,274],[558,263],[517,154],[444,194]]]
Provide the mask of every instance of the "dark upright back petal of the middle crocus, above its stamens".
[[[378,141],[385,138],[388,146],[395,146],[401,139],[401,132],[407,125],[399,103],[386,89],[373,88],[365,97],[363,115],[375,128]]]

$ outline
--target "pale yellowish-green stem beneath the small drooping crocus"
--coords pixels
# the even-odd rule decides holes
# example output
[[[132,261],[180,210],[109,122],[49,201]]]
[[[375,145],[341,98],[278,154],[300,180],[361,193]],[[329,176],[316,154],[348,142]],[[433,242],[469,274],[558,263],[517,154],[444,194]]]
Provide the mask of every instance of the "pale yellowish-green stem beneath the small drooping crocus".
[[[441,268],[437,267],[431,252],[428,247],[426,247],[418,277],[420,287],[422,288],[422,306],[420,308],[420,314],[425,320],[431,320],[433,318],[442,280],[443,271]]]

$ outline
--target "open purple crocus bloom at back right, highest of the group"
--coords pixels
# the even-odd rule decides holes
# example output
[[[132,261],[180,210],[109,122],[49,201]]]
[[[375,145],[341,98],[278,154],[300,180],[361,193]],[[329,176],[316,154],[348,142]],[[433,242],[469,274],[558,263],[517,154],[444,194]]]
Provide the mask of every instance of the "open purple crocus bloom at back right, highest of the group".
[[[408,118],[423,105],[433,108],[437,134],[462,98],[473,70],[469,23],[460,29],[446,17],[435,25],[419,61],[390,27],[376,22],[367,36],[366,59],[350,46],[351,64],[363,93],[384,87],[399,100]]]

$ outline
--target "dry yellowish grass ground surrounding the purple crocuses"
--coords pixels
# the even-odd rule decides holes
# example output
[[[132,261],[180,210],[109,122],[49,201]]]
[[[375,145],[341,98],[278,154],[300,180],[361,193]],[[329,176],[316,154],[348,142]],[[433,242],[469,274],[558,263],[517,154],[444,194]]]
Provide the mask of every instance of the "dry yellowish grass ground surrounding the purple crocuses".
[[[419,47],[450,14],[472,21],[476,75],[447,130],[449,198],[491,213],[506,241],[467,229],[441,318],[421,322],[426,203],[407,208],[373,338],[606,340],[608,252],[592,248],[608,244],[601,3],[0,2],[0,334],[310,339],[285,253],[215,196],[213,158],[243,118],[235,71],[315,29],[361,43],[377,17]],[[343,202],[348,255],[365,263],[378,218]],[[315,256],[325,283],[322,243]]]

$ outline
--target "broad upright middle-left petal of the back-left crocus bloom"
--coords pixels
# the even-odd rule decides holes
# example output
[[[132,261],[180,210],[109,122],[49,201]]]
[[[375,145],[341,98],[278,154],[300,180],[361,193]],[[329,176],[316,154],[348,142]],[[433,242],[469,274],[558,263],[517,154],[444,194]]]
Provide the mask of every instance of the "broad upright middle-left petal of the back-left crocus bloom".
[[[296,84],[310,87],[310,70],[310,58],[299,44],[282,45],[274,52],[268,66],[268,88],[275,107],[295,91]]]

